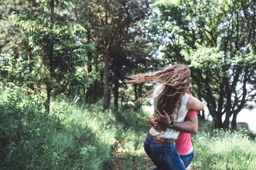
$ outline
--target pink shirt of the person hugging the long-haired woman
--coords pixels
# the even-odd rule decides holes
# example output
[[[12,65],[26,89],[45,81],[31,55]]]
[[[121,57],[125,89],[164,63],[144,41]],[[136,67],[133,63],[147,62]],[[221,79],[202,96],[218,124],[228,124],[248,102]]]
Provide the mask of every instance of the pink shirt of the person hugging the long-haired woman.
[[[186,116],[190,115],[197,115],[196,111],[189,110],[186,113]],[[187,121],[186,117],[184,119],[184,122]],[[190,150],[192,147],[191,139],[190,139],[190,133],[183,133],[180,132],[178,138],[176,139],[176,149],[179,155],[182,155]]]

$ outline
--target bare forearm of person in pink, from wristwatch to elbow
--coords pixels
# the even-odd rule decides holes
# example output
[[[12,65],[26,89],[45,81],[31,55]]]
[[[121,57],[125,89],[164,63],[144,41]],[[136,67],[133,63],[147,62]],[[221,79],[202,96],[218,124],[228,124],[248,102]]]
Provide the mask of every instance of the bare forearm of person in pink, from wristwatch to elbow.
[[[192,121],[186,121],[186,122],[180,122],[180,123],[174,122],[172,128],[180,132],[195,134],[198,130],[198,125]]]

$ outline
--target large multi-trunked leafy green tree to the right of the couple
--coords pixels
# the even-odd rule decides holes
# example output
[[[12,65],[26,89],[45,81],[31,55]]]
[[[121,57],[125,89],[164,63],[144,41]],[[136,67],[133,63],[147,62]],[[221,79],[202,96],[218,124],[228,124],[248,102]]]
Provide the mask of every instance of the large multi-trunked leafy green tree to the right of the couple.
[[[193,87],[218,128],[229,128],[231,115],[236,128],[237,114],[256,100],[255,5],[254,0],[157,3],[165,58],[189,65]]]

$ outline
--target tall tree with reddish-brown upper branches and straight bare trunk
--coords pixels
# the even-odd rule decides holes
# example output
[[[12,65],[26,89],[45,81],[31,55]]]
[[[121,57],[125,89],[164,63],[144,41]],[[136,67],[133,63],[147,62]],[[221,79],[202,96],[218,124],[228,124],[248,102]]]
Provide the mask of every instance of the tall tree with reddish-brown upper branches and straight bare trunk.
[[[103,105],[104,110],[108,110],[110,102],[109,62],[112,59],[111,54],[119,51],[120,46],[124,45],[126,40],[129,40],[129,38],[127,39],[129,31],[135,27],[138,21],[143,20],[148,15],[148,1],[86,0],[76,1],[76,4],[81,4],[75,8],[76,18],[79,18],[79,21],[90,23],[90,27],[88,27],[90,40],[97,44],[103,56]]]

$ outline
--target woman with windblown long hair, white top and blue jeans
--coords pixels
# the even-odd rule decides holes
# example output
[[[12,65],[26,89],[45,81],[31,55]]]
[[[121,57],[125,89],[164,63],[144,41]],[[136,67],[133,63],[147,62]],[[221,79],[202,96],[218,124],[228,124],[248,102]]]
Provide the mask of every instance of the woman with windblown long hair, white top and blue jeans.
[[[179,131],[172,129],[173,122],[183,122],[186,113],[191,110],[203,110],[203,103],[186,91],[190,88],[190,70],[184,64],[177,64],[163,70],[149,74],[136,74],[129,77],[129,82],[157,82],[150,96],[154,100],[153,118],[158,113],[167,113],[171,118],[171,125],[165,131],[151,127],[144,140],[144,150],[151,158],[158,170],[185,170],[185,166],[177,153],[175,141]],[[151,93],[151,94],[150,94]],[[138,101],[137,100],[137,101]]]

